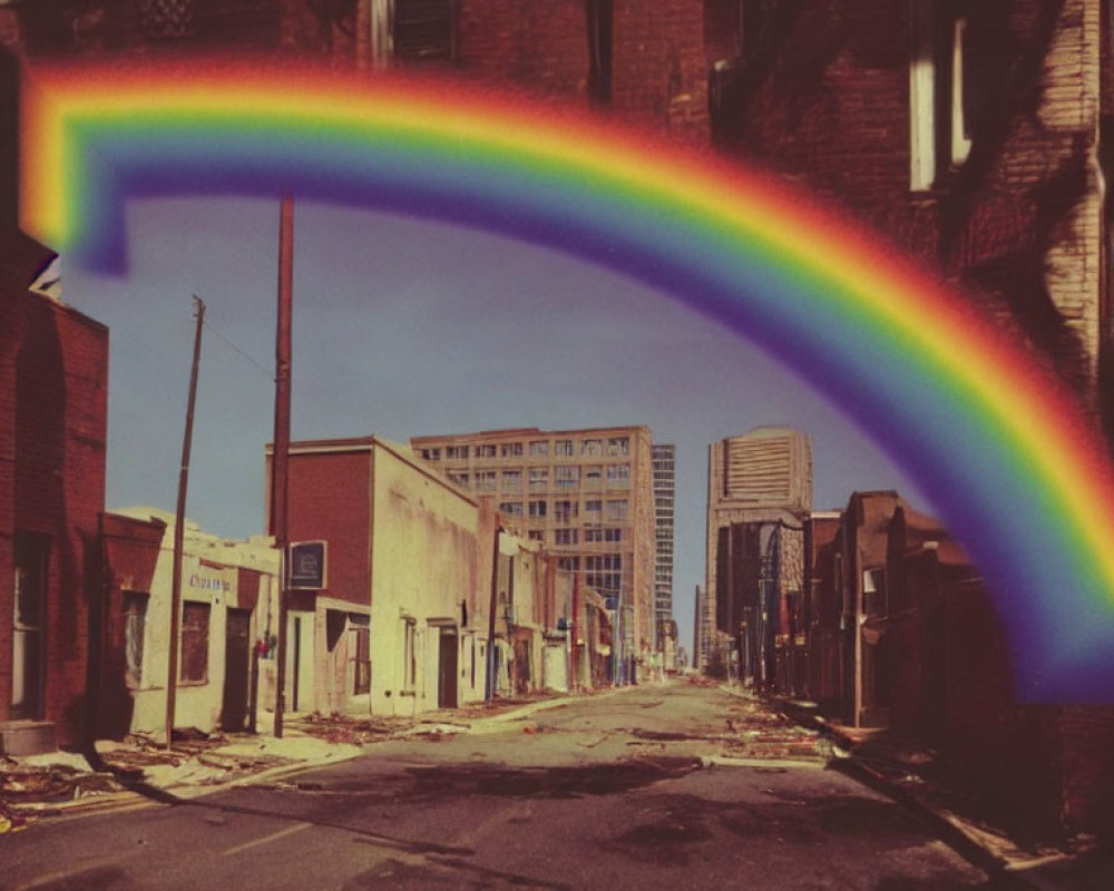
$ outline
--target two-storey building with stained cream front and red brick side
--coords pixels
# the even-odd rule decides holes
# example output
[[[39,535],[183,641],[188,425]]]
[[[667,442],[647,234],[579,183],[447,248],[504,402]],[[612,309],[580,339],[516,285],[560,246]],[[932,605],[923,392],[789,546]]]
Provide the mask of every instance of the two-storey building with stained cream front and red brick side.
[[[325,542],[326,579],[290,600],[287,666],[309,669],[287,709],[410,715],[482,699],[495,511],[378,437],[293,443],[289,499],[290,538]]]

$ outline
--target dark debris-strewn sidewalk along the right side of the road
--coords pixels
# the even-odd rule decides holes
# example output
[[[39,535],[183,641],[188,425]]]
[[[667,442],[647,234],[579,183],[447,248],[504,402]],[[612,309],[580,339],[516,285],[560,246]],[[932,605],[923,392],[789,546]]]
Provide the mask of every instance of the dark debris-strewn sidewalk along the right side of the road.
[[[737,695],[739,691],[734,691]],[[758,697],[755,697],[758,698]],[[1004,887],[1038,891],[1114,889],[1114,852],[1086,836],[1024,831],[1005,815],[949,782],[935,753],[825,721],[811,703],[766,703],[793,721],[819,730],[833,744],[831,766],[900,802],[967,860]],[[1015,815],[1016,816],[1016,815]]]

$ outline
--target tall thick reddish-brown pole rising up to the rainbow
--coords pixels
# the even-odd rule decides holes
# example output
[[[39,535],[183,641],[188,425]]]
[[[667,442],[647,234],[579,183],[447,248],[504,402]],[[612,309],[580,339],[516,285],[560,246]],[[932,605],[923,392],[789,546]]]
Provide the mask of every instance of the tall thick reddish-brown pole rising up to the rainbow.
[[[286,709],[287,477],[290,463],[291,315],[294,292],[294,199],[283,195],[278,213],[278,323],[275,334],[275,434],[271,459],[271,535],[278,549],[278,652],[275,656],[275,726],[282,737]]]

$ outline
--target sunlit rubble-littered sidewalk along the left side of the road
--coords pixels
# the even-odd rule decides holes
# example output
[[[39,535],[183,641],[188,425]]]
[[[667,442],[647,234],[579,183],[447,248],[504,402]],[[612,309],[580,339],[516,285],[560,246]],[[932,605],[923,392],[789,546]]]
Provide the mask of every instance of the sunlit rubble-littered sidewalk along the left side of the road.
[[[261,716],[256,734],[175,731],[169,750],[143,735],[124,742],[98,740],[92,758],[98,763],[92,766],[89,758],[69,752],[0,755],[0,835],[43,817],[173,803],[273,781],[354,758],[377,742],[487,732],[576,697],[614,692],[496,699],[416,717],[289,715],[281,740],[271,735],[267,714]]]

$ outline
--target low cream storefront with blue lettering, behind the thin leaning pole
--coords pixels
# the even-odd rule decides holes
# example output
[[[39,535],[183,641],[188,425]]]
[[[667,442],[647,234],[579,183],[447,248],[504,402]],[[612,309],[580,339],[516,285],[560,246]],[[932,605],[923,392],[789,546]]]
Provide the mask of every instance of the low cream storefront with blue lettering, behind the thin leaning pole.
[[[98,735],[165,735],[174,523],[145,507],[101,517]],[[268,539],[222,539],[186,522],[175,727],[242,732],[261,698],[273,702],[277,579]]]

